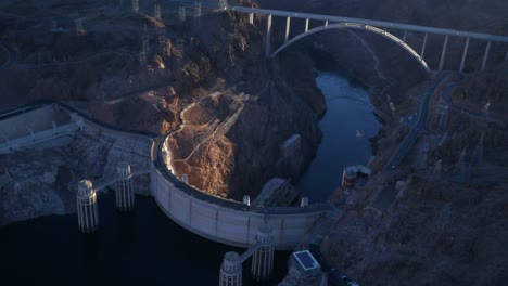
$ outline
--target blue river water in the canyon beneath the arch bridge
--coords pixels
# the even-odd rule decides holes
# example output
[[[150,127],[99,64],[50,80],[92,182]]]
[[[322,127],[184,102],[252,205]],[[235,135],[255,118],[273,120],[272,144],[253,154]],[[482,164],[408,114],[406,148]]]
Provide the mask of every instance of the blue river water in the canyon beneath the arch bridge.
[[[309,197],[310,204],[326,202],[341,185],[344,167],[368,162],[372,155],[369,138],[381,127],[365,89],[352,86],[336,73],[319,72],[316,82],[328,105],[319,122],[323,138],[297,183],[302,196]]]

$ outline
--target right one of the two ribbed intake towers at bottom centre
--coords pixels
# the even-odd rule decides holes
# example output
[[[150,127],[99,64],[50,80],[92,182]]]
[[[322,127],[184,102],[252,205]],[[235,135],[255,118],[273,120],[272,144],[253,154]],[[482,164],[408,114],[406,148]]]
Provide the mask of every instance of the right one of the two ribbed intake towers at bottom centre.
[[[274,233],[271,226],[264,224],[257,227],[256,243],[267,244],[259,247],[252,257],[252,277],[259,282],[267,282],[274,271]]]

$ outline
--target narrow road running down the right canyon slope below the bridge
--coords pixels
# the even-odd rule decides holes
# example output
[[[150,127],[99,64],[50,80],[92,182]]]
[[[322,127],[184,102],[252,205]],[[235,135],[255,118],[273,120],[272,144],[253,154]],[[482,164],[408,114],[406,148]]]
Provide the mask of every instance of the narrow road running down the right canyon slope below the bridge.
[[[434,94],[435,88],[445,78],[445,75],[446,75],[445,73],[441,72],[440,74],[437,74],[435,76],[432,86],[424,93],[423,101],[420,104],[420,108],[419,108],[419,112],[418,112],[417,123],[412,127],[412,129],[406,135],[406,138],[401,143],[401,145],[398,145],[397,151],[386,161],[386,164],[384,165],[383,170],[390,170],[390,169],[393,170],[393,169],[397,168],[398,165],[401,164],[401,161],[406,156],[409,148],[415,143],[418,135],[420,134],[420,131],[426,128],[427,116],[429,115],[429,101],[432,98],[432,94]]]

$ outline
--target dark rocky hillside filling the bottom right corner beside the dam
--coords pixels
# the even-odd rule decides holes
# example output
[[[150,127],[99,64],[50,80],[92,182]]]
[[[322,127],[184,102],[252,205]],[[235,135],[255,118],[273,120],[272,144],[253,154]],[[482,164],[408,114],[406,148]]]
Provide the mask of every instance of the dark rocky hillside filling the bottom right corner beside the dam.
[[[382,214],[364,207],[344,212],[321,249],[363,285],[503,285],[506,187],[417,176]]]

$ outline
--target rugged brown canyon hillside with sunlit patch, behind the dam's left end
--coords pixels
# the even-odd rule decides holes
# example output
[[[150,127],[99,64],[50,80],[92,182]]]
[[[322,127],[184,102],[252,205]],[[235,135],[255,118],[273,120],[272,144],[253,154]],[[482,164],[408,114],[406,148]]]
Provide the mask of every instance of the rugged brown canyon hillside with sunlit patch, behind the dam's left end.
[[[323,113],[325,99],[312,62],[301,53],[280,63],[264,60],[263,24],[250,25],[246,15],[231,12],[207,13],[199,23],[161,22],[89,1],[87,11],[97,13],[87,14],[92,20],[77,31],[72,15],[45,18],[52,5],[71,9],[27,4],[24,13],[36,15],[34,24],[18,18],[16,5],[4,4],[2,32],[15,42],[18,63],[0,70],[5,79],[0,91],[9,94],[3,108],[47,98],[84,101],[99,120],[170,133],[179,159],[176,173],[223,197],[255,196],[270,178],[295,178],[309,161],[320,139],[316,114]],[[142,39],[148,65],[140,64]],[[221,93],[218,104],[195,110],[209,113],[212,121],[183,122],[181,112],[214,92]],[[234,100],[242,93],[255,100]],[[302,135],[302,156],[288,171],[277,162],[279,144],[293,133]]]

